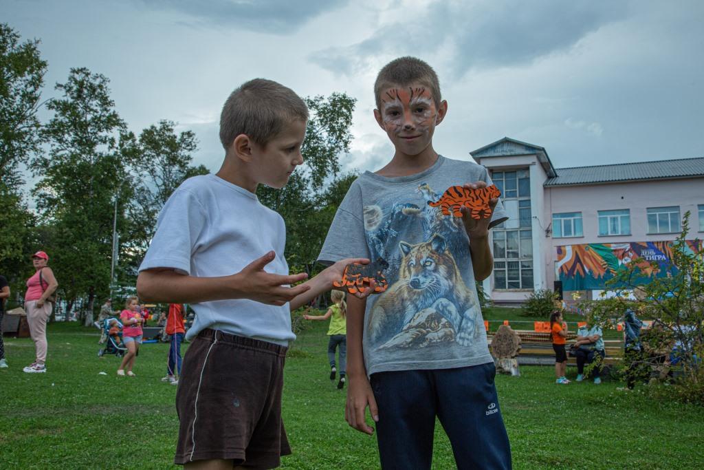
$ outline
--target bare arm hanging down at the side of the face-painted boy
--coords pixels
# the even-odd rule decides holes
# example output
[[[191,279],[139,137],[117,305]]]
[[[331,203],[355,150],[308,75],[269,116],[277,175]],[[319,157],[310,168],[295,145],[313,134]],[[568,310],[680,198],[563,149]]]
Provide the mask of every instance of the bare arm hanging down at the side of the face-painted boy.
[[[367,379],[367,369],[364,365],[362,352],[362,335],[364,330],[364,314],[367,299],[347,296],[347,402],[345,419],[357,431],[366,434],[374,433],[374,428],[367,425],[365,411],[367,406],[374,421],[379,421],[379,410],[372,392],[372,386]]]

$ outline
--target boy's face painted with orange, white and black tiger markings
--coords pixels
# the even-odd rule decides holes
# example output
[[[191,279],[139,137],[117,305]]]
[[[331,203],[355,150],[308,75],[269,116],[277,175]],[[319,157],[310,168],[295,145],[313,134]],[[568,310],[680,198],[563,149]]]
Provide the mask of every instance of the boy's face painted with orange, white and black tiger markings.
[[[382,90],[381,109],[375,110],[377,123],[396,147],[396,152],[415,156],[426,149],[432,151],[431,141],[435,126],[444,117],[446,103],[441,111],[423,85],[390,87]]]

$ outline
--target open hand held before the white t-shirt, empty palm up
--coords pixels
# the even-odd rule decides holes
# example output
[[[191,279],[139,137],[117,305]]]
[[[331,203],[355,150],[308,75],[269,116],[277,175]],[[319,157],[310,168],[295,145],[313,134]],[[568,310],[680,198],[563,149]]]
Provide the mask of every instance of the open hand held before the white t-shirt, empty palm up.
[[[252,261],[242,271],[234,274],[233,277],[238,278],[239,282],[237,285],[241,286],[239,288],[242,293],[246,294],[246,298],[280,307],[287,302],[291,302],[291,299],[294,299],[297,295],[309,290],[310,286],[301,284],[296,285],[296,287],[288,287],[308,278],[306,273],[282,276],[264,271],[264,266],[273,261],[274,257],[274,252],[268,252],[259,259]]]

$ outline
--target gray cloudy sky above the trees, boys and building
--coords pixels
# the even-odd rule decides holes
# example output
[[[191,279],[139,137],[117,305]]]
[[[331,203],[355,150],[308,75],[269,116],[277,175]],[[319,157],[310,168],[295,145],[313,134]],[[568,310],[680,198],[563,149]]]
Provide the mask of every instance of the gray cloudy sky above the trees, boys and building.
[[[1,21],[42,40],[44,97],[72,67],[111,79],[135,132],[175,120],[222,161],[218,118],[250,78],[358,99],[344,168],[393,154],[372,84],[413,55],[440,77],[434,147],[456,159],[508,136],[556,168],[704,156],[704,2],[618,0],[2,0]]]

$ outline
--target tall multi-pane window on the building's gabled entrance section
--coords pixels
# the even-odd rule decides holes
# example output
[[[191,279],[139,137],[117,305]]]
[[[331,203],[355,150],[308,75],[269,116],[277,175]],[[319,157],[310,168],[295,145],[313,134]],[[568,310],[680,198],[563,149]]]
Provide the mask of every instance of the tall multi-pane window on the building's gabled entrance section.
[[[508,221],[491,230],[494,242],[494,289],[533,288],[533,236],[528,168],[494,171]]]

